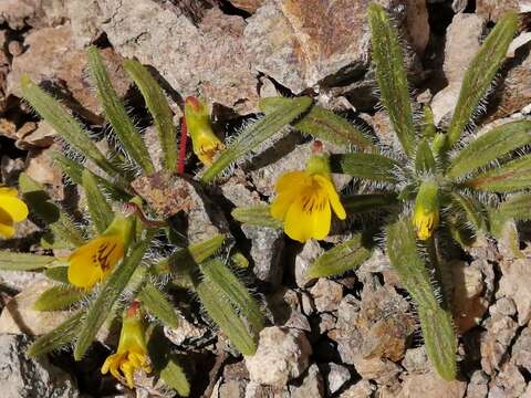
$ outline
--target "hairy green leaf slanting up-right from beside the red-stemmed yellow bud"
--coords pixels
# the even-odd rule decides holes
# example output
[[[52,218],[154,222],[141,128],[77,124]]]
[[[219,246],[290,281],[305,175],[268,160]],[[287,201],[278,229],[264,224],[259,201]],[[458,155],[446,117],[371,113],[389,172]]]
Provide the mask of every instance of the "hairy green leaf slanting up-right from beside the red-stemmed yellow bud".
[[[299,97],[290,102],[290,104],[282,109],[274,111],[258,122],[248,125],[205,171],[201,180],[204,182],[211,182],[212,179],[231,163],[249,154],[266,139],[280,132],[282,127],[293,122],[311,105],[312,98],[305,96]]]

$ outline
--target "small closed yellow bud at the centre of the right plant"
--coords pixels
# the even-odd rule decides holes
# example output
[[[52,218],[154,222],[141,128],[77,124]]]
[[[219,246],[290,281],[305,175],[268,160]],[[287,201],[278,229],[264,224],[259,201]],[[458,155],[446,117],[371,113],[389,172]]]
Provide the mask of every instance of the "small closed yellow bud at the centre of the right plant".
[[[424,181],[415,200],[413,223],[420,240],[427,240],[439,226],[438,187],[433,181]]]

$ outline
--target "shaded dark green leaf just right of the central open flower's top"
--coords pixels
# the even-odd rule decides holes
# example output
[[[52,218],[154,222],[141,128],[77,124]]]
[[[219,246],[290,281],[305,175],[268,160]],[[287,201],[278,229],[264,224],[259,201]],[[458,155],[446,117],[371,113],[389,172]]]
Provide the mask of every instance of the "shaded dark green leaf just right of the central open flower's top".
[[[343,154],[332,155],[330,166],[332,172],[372,181],[396,182],[395,169],[399,164],[377,154]]]

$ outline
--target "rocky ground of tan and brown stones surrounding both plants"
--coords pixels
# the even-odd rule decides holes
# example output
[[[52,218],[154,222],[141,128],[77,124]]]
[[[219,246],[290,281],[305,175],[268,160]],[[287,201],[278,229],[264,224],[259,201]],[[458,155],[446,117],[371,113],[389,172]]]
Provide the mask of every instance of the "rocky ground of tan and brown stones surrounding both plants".
[[[407,46],[415,98],[433,106],[440,126],[457,101],[464,73],[486,32],[507,9],[522,13],[522,33],[511,45],[480,127],[531,113],[531,2],[525,0],[377,0],[393,14]],[[136,57],[153,67],[171,100],[176,119],[188,95],[214,106],[219,126],[256,116],[258,100],[305,92],[329,108],[376,126],[392,139],[377,111],[371,70],[368,0],[0,0],[0,172],[14,184],[21,171],[66,202],[75,189],[50,158],[55,133],[21,101],[23,74],[52,91],[84,123],[104,128],[102,109],[86,78],[90,44],[103,50],[113,83],[142,125],[138,93],[121,67]],[[496,122],[494,122],[496,123]],[[148,124],[146,137],[153,136]],[[149,139],[148,139],[149,140]],[[235,206],[267,201],[272,181],[299,169],[308,139],[290,134],[278,154],[237,168],[216,201]],[[156,156],[157,148],[152,146]],[[190,170],[191,171],[191,170]],[[337,184],[346,184],[340,181]],[[195,224],[205,232],[205,212]],[[229,219],[229,218],[228,218]],[[483,240],[452,264],[454,304],[460,335],[460,378],[444,383],[430,370],[415,308],[382,252],[356,272],[308,280],[305,269],[331,243],[304,245],[282,232],[227,221],[252,260],[249,284],[263,298],[269,326],[253,357],[237,356],[222,336],[183,320],[166,331],[186,356],[194,397],[531,397],[531,251],[529,226],[518,226],[520,251]],[[39,252],[40,229],[25,221],[1,249]],[[190,237],[191,239],[192,237]],[[196,237],[197,238],[197,237]],[[206,238],[206,237],[202,237]],[[198,238],[200,239],[200,237]],[[62,314],[31,304],[46,287],[39,274],[0,272],[0,392],[3,397],[158,397],[153,379],[124,389],[98,367],[108,354],[96,346],[81,363],[70,353],[39,360],[24,350]],[[65,314],[64,314],[65,315]],[[112,342],[113,336],[101,336]]]

